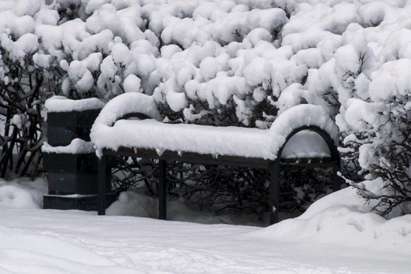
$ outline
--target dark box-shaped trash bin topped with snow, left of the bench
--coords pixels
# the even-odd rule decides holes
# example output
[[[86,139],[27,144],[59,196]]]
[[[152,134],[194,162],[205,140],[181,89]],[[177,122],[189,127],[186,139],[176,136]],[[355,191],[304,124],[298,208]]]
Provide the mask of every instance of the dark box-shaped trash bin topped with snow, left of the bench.
[[[49,182],[49,193],[43,197],[46,209],[97,210],[99,159],[93,151],[76,151],[71,147],[76,138],[90,142],[92,124],[103,107],[96,100],[75,101],[58,97],[46,102],[46,108],[51,109],[47,112],[47,145],[43,146],[43,164]],[[67,110],[67,105],[73,110]],[[92,109],[86,109],[84,105],[90,105]],[[108,184],[107,206],[116,200],[116,194],[110,190]]]

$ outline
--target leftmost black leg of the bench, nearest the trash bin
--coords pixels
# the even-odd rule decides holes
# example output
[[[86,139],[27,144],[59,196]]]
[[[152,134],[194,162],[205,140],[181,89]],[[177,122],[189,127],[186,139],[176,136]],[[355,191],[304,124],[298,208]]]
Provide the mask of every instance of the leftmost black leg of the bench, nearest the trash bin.
[[[111,186],[110,158],[108,156],[101,156],[98,172],[97,213],[105,215],[105,190],[107,186]]]

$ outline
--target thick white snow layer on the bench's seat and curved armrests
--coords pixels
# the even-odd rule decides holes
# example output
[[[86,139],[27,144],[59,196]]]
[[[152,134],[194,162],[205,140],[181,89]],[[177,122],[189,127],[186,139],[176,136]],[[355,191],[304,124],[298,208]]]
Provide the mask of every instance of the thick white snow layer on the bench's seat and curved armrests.
[[[125,120],[121,116],[138,112],[153,119]],[[334,140],[338,129],[325,110],[316,105],[297,105],[286,110],[270,129],[243,127],[212,127],[204,125],[162,123],[152,97],[126,93],[112,99],[101,110],[91,130],[97,148],[117,150],[119,147],[156,149],[162,151],[241,156],[275,160],[287,136],[304,125],[316,125]],[[313,132],[296,134],[288,142],[282,158],[314,158],[329,155],[322,138]],[[294,143],[294,145],[292,145]],[[296,149],[292,149],[295,147]]]

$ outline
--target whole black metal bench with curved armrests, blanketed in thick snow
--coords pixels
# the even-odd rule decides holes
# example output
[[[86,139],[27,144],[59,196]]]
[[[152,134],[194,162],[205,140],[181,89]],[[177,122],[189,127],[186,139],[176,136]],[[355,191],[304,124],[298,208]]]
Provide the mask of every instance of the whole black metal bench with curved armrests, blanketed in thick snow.
[[[127,119],[131,116],[140,119]],[[149,118],[149,119],[145,119]],[[160,160],[159,218],[166,219],[166,161],[269,169],[270,222],[278,221],[279,169],[283,164],[332,166],[334,190],[340,188],[338,128],[321,106],[297,105],[270,129],[162,123],[153,98],[126,93],[101,110],[91,129],[99,162],[99,214],[105,214],[113,155]]]

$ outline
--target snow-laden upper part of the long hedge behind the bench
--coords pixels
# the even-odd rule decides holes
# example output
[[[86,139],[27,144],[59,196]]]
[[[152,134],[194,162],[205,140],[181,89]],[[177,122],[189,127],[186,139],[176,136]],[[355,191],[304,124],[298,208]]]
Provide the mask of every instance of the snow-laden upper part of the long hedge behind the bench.
[[[259,128],[294,105],[323,105],[350,168],[391,174],[393,192],[363,193],[402,203],[410,14],[406,0],[3,0],[0,88],[16,83],[18,64],[66,97],[145,92],[169,119]]]

